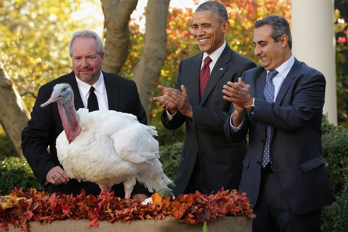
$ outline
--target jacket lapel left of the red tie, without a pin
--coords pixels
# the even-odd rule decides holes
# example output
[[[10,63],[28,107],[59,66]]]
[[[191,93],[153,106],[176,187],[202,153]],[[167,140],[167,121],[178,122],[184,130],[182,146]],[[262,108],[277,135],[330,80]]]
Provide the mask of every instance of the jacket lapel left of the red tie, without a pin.
[[[192,63],[192,68],[190,69],[191,73],[188,73],[188,80],[190,84],[190,91],[187,91],[187,97],[189,102],[192,105],[199,105],[200,96],[199,96],[199,75],[201,71],[203,59],[203,52],[197,54],[194,58],[194,63]],[[180,86],[179,86],[180,87]]]

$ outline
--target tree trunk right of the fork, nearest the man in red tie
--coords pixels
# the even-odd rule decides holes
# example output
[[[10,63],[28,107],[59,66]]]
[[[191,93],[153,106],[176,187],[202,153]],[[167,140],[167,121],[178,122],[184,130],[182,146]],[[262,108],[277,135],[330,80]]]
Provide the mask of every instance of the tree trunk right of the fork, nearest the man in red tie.
[[[146,6],[146,33],[142,57],[133,70],[140,100],[150,118],[152,93],[166,57],[167,11],[170,0],[148,0]],[[148,120],[149,121],[149,120]]]

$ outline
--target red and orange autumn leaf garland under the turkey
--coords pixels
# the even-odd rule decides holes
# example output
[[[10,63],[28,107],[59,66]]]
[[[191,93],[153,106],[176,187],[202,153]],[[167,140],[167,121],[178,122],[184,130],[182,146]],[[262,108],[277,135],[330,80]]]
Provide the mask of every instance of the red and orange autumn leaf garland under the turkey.
[[[15,189],[6,197],[0,197],[0,228],[6,231],[7,223],[10,223],[26,232],[31,220],[43,223],[87,218],[90,223],[86,227],[97,227],[98,221],[103,220],[160,220],[166,216],[184,219],[190,224],[209,222],[223,216],[255,217],[246,193],[237,190],[222,189],[211,195],[196,191],[193,194],[182,194],[175,200],[169,197],[157,199],[155,204],[147,205],[142,205],[138,200],[114,197],[113,192],[106,191],[102,191],[98,197],[86,195],[85,191],[73,197],[61,193],[47,194],[35,189],[27,192]]]

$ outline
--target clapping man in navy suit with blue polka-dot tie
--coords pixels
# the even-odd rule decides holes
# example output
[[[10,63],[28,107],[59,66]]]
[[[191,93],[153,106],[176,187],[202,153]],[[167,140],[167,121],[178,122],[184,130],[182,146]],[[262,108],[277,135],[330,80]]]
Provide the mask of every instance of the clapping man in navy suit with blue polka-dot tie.
[[[321,207],[335,201],[322,157],[325,78],[294,58],[283,17],[256,21],[253,42],[261,65],[223,90],[234,105],[227,137],[249,131],[240,189],[254,206],[253,231],[320,231]]]

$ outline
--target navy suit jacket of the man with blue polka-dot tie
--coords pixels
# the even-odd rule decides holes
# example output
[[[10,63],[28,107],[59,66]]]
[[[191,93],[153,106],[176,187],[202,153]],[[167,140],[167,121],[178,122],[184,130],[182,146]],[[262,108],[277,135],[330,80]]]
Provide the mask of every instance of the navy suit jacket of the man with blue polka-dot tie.
[[[272,126],[270,155],[274,175],[290,209],[298,214],[319,209],[335,201],[322,157],[322,112],[325,78],[319,71],[295,59],[284,79],[275,103],[265,100],[266,70],[258,66],[243,75],[255,97],[254,115],[245,115],[243,127],[233,132],[229,120],[225,133],[234,142],[249,131],[240,189],[251,204],[257,203],[261,180],[261,159],[266,125]],[[270,190],[271,191],[271,190]]]

